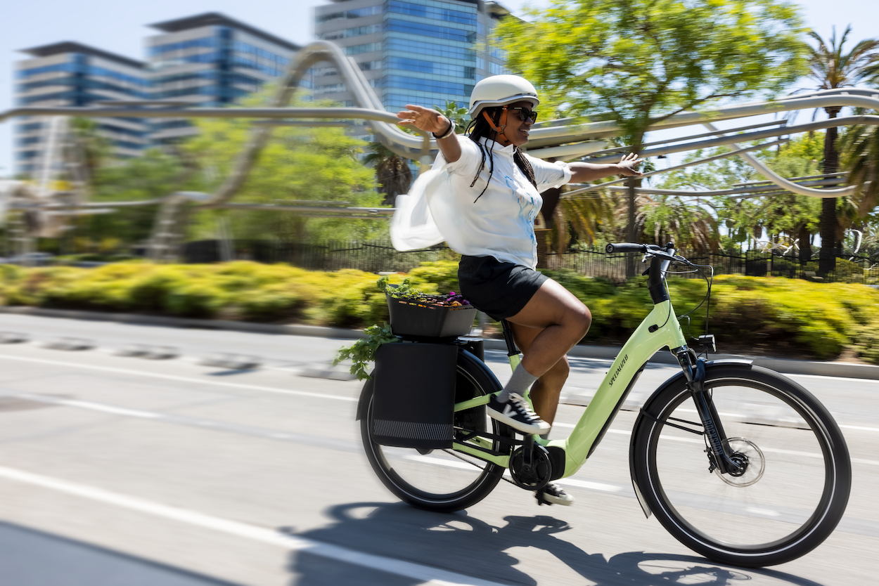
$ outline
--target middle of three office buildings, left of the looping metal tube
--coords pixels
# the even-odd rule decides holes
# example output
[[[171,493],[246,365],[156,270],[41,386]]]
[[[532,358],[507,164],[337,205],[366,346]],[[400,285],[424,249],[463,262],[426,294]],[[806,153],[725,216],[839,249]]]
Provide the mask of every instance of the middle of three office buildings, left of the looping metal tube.
[[[152,98],[157,100],[201,106],[237,103],[282,75],[300,49],[217,12],[150,26],[162,32],[146,40]],[[196,132],[184,119],[163,119],[153,127],[156,143]]]

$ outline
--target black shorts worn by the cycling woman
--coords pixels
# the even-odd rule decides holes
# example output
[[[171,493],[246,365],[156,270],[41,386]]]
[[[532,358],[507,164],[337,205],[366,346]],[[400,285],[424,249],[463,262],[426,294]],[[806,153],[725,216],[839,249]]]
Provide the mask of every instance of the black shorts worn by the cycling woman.
[[[495,257],[465,255],[458,264],[461,295],[495,320],[518,314],[547,279],[539,271]]]

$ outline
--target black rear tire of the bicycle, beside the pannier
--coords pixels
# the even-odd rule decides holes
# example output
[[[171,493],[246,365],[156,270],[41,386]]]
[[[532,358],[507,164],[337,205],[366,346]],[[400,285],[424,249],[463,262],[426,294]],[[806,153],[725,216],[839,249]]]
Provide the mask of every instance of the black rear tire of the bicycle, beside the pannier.
[[[468,377],[470,382],[476,387],[476,392],[481,394],[490,394],[500,390],[498,380],[487,376],[483,369],[476,365],[473,360],[473,358],[468,358],[465,353],[459,352],[456,365],[457,373]],[[360,403],[363,405],[363,416],[360,418],[360,437],[374,473],[379,477],[381,483],[404,503],[409,503],[419,509],[454,512],[455,510],[467,509],[479,503],[498,486],[505,468],[482,461],[481,464],[484,464],[483,472],[477,476],[476,481],[472,482],[467,488],[462,488],[450,495],[440,496],[411,486],[399,474],[396,474],[392,467],[389,469],[386,466],[386,462],[380,453],[381,446],[375,444],[371,439],[372,430],[370,429],[369,422],[372,419],[372,399],[373,381],[367,380],[360,398]],[[494,419],[490,421],[493,433],[509,438],[513,437],[512,431],[506,425],[498,423]],[[502,449],[497,441],[494,444],[494,448],[496,450]]]

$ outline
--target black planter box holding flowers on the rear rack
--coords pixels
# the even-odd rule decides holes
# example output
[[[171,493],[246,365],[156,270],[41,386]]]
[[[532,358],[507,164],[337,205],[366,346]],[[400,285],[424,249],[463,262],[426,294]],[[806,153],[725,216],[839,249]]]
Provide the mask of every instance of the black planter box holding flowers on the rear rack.
[[[476,307],[447,307],[388,297],[390,329],[396,336],[467,336],[476,319]]]

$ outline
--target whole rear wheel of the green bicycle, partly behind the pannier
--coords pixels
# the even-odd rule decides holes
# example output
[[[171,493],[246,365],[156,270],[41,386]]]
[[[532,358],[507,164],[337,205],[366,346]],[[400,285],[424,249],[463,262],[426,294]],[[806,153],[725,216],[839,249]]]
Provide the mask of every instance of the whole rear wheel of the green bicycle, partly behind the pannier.
[[[464,352],[458,353],[456,369],[455,402],[500,390],[498,380],[490,375],[488,368]],[[504,468],[469,455],[454,450],[422,453],[417,449],[376,444],[370,425],[372,380],[367,380],[363,387],[360,402],[363,405],[360,435],[367,459],[381,482],[405,503],[427,510],[461,510],[483,500],[498,485]],[[488,416],[484,405],[455,413],[454,425],[513,437],[512,430]],[[502,452],[508,447],[494,440],[491,449]]]

